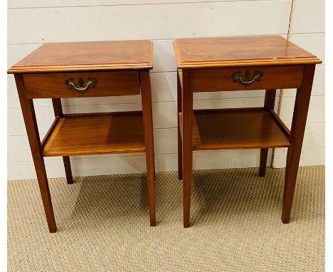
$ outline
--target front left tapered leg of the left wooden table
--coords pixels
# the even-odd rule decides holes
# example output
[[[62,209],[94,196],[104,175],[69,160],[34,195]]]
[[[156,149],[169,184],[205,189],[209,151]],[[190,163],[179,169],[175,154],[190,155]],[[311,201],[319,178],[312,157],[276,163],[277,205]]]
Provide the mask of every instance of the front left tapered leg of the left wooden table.
[[[23,119],[26,125],[26,132],[28,134],[33,163],[35,164],[46,220],[48,221],[48,229],[50,232],[56,232],[56,220],[54,218],[51,195],[48,188],[48,178],[46,176],[46,169],[41,149],[41,140],[38,133],[35,109],[33,108],[33,100],[26,97],[23,75],[15,75],[15,81],[18,89],[18,97],[21,103]]]

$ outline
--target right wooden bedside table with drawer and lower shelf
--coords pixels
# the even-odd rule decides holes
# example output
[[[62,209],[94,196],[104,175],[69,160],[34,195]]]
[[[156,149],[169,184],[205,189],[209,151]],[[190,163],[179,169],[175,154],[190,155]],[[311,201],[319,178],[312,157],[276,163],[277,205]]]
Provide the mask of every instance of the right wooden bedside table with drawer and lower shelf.
[[[178,68],[179,179],[184,227],[189,227],[193,150],[260,148],[260,177],[268,148],[288,147],[282,222],[292,207],[314,68],[322,63],[281,36],[184,38],[174,41]],[[182,77],[182,78],[181,78]],[[291,130],[274,112],[276,89],[297,88]],[[263,108],[193,110],[193,93],[266,90]]]

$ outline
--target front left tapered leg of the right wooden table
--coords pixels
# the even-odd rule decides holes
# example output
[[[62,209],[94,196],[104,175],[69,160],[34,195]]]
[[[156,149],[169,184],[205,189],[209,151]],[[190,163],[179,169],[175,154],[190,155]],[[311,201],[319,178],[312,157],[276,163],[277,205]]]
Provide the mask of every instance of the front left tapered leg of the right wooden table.
[[[193,159],[193,73],[183,70],[183,209],[184,228],[190,226],[191,189],[192,189],[192,159]]]

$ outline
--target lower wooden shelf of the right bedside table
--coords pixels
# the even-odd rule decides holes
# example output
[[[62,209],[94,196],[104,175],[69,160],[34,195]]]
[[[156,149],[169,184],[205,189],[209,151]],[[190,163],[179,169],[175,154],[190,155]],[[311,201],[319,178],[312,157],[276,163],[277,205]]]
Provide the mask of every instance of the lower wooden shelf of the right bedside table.
[[[179,114],[182,131],[182,116]],[[290,132],[264,108],[194,110],[193,150],[289,147]]]

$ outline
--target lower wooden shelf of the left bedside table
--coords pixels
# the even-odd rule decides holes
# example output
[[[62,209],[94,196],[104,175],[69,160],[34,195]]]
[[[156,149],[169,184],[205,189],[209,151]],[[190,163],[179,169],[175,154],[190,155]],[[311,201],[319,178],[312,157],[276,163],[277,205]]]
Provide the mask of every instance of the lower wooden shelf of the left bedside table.
[[[144,152],[142,113],[64,115],[42,147],[46,157]]]

